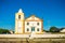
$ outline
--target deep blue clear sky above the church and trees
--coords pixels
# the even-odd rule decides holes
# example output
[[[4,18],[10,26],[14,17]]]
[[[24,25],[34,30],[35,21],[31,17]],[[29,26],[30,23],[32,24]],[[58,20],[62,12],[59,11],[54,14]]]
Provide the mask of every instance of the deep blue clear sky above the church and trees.
[[[0,0],[0,28],[14,30],[15,13],[22,9],[25,17],[43,19],[43,29],[65,27],[65,0]]]

